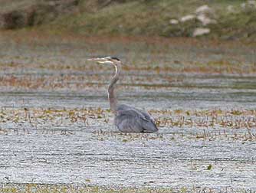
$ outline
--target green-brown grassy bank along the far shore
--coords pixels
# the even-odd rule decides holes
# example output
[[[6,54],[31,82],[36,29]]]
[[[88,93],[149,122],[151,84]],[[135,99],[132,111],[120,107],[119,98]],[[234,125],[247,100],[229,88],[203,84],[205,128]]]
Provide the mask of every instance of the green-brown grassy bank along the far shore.
[[[25,5],[28,6],[29,1],[25,2]],[[54,18],[46,19],[47,17],[44,17],[44,20],[37,21],[35,24],[41,25],[40,31],[54,34],[71,32],[87,36],[192,37],[195,35],[196,28],[208,28],[209,32],[202,36],[221,39],[249,39],[251,41],[256,38],[256,7],[253,2],[251,4],[242,0],[106,2],[81,0],[76,5],[77,8],[73,9],[74,11],[68,14],[55,13]],[[34,2],[31,1],[31,3]],[[208,13],[205,15],[214,21],[207,25],[200,21],[195,14],[195,10],[205,3],[211,9],[211,15],[209,16]],[[19,4],[21,3],[19,2]],[[13,4],[12,7],[15,8]],[[4,8],[8,9],[9,6],[5,5]],[[48,10],[52,11],[51,8]],[[44,10],[44,13],[47,11]],[[182,21],[182,17],[186,15],[193,15],[195,18]],[[175,24],[172,23],[173,20],[175,20]]]

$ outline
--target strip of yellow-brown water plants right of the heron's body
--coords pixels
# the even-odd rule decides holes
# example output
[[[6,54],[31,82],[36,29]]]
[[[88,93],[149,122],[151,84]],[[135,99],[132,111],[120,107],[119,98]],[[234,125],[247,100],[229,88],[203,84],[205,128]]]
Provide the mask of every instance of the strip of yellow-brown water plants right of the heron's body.
[[[253,129],[256,128],[255,110],[150,110],[161,126]]]

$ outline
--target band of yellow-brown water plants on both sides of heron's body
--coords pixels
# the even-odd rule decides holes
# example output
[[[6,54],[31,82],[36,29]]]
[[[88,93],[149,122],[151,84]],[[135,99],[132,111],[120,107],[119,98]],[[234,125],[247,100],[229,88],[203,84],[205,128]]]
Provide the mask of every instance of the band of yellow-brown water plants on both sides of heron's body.
[[[214,140],[220,137],[254,141],[256,135],[255,110],[149,110],[156,117],[156,124],[166,133],[168,128],[196,129],[190,138]],[[99,137],[118,135],[118,133],[91,131],[91,126],[109,125],[113,127],[113,115],[110,110],[100,108],[83,109],[5,109],[0,112],[0,134],[63,134],[73,135],[80,127],[87,132],[95,132]],[[23,126],[26,125],[24,128]],[[73,129],[71,129],[73,128]],[[76,129],[77,128],[77,129]],[[234,132],[231,130],[234,129]],[[115,129],[111,129],[115,131]],[[121,135],[122,136],[122,135]],[[179,136],[179,134],[178,134]],[[172,136],[173,137],[173,136]],[[123,142],[134,139],[159,139],[162,134],[124,135]],[[99,138],[103,140],[103,138]]]

